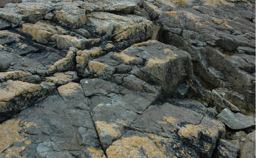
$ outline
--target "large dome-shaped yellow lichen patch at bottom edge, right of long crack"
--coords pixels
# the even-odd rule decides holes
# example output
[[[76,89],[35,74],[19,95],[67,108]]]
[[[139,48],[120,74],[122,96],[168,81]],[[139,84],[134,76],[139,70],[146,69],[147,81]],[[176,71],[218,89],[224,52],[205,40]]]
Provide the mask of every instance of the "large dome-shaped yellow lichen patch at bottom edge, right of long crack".
[[[139,136],[131,136],[114,141],[106,150],[106,153],[109,158],[166,157],[149,138]]]

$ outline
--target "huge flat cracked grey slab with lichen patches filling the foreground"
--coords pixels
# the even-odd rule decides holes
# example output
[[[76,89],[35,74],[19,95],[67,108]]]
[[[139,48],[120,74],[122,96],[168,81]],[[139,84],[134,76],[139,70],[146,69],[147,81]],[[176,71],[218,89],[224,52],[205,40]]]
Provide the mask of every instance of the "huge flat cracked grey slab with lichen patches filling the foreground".
[[[80,83],[1,124],[0,142],[8,143],[0,156],[211,157],[224,136],[224,125],[196,100],[155,104],[145,90],[97,78]]]

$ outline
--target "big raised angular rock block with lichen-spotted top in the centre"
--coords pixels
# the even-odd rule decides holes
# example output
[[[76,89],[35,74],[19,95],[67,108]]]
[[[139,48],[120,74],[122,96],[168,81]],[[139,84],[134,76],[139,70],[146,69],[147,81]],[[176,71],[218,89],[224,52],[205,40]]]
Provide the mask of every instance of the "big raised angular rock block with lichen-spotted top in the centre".
[[[83,75],[126,84],[124,77],[130,74],[151,85],[161,86],[164,94],[171,96],[178,84],[192,79],[191,58],[176,47],[149,40],[132,45],[120,53],[110,52],[89,61]],[[126,80],[131,79],[128,77]]]

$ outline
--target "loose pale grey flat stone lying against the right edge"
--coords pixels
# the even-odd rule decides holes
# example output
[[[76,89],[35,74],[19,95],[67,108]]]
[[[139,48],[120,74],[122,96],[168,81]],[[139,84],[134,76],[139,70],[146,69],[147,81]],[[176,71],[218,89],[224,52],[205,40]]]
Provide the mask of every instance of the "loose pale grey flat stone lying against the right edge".
[[[241,113],[233,113],[228,108],[225,108],[217,118],[225,125],[234,130],[246,129],[255,126],[255,118],[246,116]]]

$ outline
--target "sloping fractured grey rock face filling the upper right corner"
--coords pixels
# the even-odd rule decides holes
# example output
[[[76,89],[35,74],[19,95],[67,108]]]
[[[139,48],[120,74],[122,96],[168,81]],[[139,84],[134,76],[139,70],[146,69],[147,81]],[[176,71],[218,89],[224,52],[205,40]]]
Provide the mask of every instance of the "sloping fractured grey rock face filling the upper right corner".
[[[162,40],[191,54],[197,77],[244,94],[255,109],[255,2],[148,0]]]

